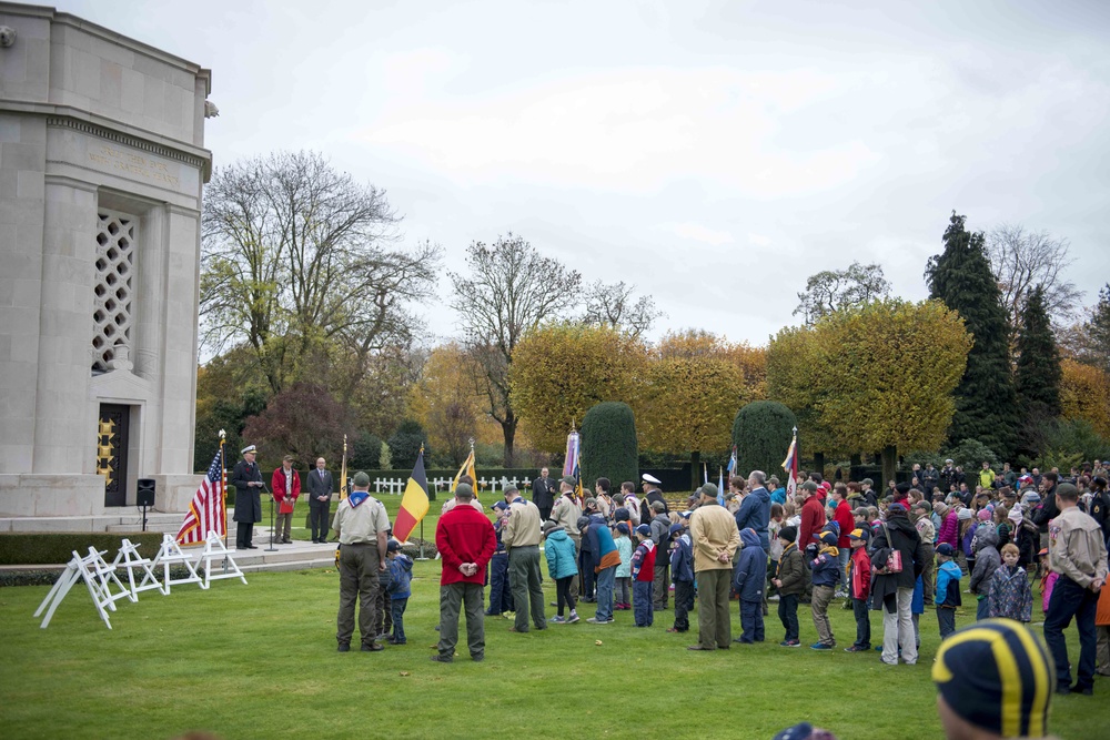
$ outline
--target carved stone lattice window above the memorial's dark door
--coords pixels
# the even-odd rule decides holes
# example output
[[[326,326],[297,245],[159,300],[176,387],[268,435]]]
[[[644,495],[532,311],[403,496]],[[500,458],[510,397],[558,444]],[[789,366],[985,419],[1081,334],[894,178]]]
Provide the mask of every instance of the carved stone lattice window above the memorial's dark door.
[[[123,213],[101,211],[97,229],[97,283],[92,312],[92,371],[113,368],[117,354],[131,349],[131,296],[135,224]],[[119,352],[119,347],[125,347]]]

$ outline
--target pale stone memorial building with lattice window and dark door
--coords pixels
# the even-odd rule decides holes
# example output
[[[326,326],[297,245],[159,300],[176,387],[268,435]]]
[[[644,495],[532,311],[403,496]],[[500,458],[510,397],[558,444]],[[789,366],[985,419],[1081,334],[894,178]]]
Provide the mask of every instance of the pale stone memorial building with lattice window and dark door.
[[[196,490],[210,88],[141,41],[0,2],[0,529],[103,529],[140,478],[157,510]]]

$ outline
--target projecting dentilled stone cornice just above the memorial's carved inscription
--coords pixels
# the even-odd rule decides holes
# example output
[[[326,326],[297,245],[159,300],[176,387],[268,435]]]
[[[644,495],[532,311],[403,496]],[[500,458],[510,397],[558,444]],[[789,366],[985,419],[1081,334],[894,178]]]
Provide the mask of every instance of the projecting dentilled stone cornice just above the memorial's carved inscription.
[[[109,119],[80,111],[69,105],[34,103],[20,100],[0,100],[0,112],[30,113],[43,115],[47,125],[73,129],[101,139],[114,141],[151,154],[176,160],[196,168],[203,173],[204,182],[212,176],[212,152],[200,146],[167,139],[157,133],[134,126],[121,126]]]

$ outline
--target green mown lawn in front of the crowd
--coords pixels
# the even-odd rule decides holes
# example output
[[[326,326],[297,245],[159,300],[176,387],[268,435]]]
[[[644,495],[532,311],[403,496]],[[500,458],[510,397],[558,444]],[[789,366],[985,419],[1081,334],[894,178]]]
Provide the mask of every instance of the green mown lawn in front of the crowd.
[[[396,497],[385,500],[395,511]],[[335,651],[339,588],[327,569],[252,574],[249,586],[220,581],[210,591],[142,594],[139,604],[121,602],[111,631],[81,587],[47,630],[31,616],[46,587],[0,589],[0,738],[159,739],[189,729],[226,740],[770,738],[803,719],[841,739],[941,737],[929,679],[938,645],[931,614],[922,616],[919,665],[897,668],[880,663],[877,652],[779,648],[774,609],[766,643],[712,653],[684,649],[693,631],[665,631],[670,611],[657,614],[650,629],[617,612],[614,625],[583,620],[527,635],[509,633],[509,621],[491,617],[484,662],[468,659],[464,638],[456,661],[437,665],[428,657],[437,638],[438,572],[436,561],[416,564],[408,645],[380,653]],[[544,586],[553,600],[554,584]],[[834,606],[837,640],[846,647],[855,622]],[[593,614],[591,605],[581,611]],[[733,615],[735,636],[735,604]],[[799,617],[808,645],[815,639],[808,607]],[[970,619],[965,609],[957,624]],[[878,615],[872,626],[878,633]],[[1076,659],[1074,629],[1069,649]],[[1110,737],[1110,679],[1100,679],[1096,692],[1058,698],[1052,732],[1063,740]]]

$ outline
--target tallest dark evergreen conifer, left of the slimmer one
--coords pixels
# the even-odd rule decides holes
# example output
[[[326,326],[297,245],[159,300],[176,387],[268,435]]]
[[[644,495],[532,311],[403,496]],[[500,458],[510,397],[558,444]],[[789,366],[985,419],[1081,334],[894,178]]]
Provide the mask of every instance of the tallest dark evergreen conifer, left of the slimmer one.
[[[952,216],[945,230],[945,251],[925,271],[929,297],[944,301],[963,317],[975,346],[956,388],[951,443],[978,439],[1007,459],[1012,452],[1017,396],[1010,373],[1006,312],[990,271],[982,232],[970,233],[966,216]]]

